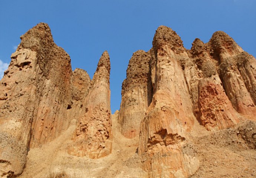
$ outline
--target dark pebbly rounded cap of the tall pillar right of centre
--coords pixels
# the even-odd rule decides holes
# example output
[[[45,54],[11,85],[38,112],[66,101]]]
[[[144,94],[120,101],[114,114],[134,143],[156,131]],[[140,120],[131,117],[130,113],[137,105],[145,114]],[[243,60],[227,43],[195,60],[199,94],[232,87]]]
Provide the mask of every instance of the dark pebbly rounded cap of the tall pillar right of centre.
[[[160,46],[168,45],[174,52],[179,53],[184,51],[183,41],[180,36],[171,28],[166,26],[160,26],[155,32],[153,47],[154,49],[160,48]]]

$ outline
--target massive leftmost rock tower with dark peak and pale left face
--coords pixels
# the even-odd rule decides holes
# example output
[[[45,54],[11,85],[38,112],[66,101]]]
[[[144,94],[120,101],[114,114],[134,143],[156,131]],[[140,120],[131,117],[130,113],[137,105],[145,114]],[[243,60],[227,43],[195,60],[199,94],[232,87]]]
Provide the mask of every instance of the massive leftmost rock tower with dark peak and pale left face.
[[[21,174],[30,146],[54,139],[69,123],[69,55],[45,23],[20,38],[0,83],[0,176]]]

